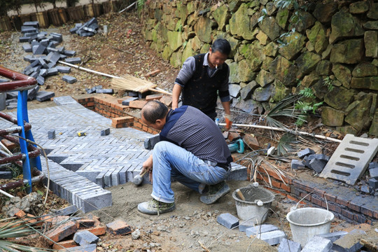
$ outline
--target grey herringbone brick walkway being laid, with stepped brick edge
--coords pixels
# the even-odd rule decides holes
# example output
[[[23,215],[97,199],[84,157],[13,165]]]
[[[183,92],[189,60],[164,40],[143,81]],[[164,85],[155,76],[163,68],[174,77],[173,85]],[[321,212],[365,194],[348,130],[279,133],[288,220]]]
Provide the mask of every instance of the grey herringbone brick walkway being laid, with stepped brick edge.
[[[144,140],[151,134],[133,128],[113,128],[111,119],[81,106],[71,97],[55,97],[59,106],[29,110],[34,140],[48,153],[50,189],[84,212],[111,205],[103,188],[132,181],[151,151]],[[16,112],[10,113],[16,116]],[[0,128],[10,123],[0,120]],[[108,136],[101,131],[110,128]],[[55,139],[48,131],[55,130]],[[85,132],[78,137],[78,132]],[[45,158],[41,157],[47,174]],[[246,167],[232,165],[229,179],[245,180]],[[148,177],[144,177],[148,183]]]

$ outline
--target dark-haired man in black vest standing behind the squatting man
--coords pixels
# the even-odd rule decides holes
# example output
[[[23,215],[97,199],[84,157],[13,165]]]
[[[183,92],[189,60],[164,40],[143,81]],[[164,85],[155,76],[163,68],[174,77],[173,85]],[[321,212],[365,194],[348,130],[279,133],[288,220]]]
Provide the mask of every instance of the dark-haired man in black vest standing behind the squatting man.
[[[206,54],[188,57],[183,63],[172,90],[172,109],[179,106],[181,92],[183,105],[194,106],[209,118],[216,118],[216,100],[219,97],[225,109],[226,128],[232,125],[230,117],[230,93],[228,77],[230,68],[225,60],[231,46],[227,40],[218,38]]]

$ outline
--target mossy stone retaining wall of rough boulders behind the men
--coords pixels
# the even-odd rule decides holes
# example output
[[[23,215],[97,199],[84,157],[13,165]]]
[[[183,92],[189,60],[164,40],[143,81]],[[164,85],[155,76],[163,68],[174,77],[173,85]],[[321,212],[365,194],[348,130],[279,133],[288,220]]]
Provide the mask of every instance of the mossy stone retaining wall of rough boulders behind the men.
[[[316,102],[324,102],[324,125],[378,136],[377,0],[314,3],[298,10],[296,24],[290,22],[295,10],[274,1],[211,3],[147,1],[148,45],[180,67],[187,57],[207,52],[215,38],[226,38],[235,108],[264,113],[286,94],[310,87]]]

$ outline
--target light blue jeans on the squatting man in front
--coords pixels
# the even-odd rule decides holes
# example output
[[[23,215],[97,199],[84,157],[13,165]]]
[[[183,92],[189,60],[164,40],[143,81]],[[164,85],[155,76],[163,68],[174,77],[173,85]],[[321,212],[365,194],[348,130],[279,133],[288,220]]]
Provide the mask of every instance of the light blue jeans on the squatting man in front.
[[[153,193],[160,202],[174,202],[171,178],[198,192],[200,183],[214,185],[224,181],[228,172],[213,167],[186,149],[169,141],[160,141],[153,148]]]

